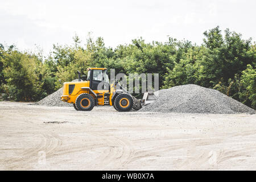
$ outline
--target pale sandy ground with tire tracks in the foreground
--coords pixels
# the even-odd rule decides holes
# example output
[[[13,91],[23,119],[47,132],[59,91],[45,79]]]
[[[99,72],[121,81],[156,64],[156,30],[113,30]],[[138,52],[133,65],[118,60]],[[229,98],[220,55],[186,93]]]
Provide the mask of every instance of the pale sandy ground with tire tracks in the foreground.
[[[256,169],[256,115],[0,102],[2,170]]]

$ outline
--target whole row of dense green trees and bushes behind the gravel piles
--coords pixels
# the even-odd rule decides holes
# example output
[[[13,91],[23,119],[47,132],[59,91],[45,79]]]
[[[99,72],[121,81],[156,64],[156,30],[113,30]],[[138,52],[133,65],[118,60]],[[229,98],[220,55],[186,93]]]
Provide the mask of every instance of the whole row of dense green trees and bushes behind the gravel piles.
[[[126,75],[159,73],[160,88],[183,84],[214,88],[255,109],[255,43],[229,29],[222,35],[219,27],[204,36],[200,46],[172,38],[165,43],[139,38],[115,49],[90,35],[81,46],[75,36],[72,46],[53,45],[44,60],[0,44],[0,92],[11,100],[37,101],[75,79],[77,70],[86,75],[88,67],[106,67]]]

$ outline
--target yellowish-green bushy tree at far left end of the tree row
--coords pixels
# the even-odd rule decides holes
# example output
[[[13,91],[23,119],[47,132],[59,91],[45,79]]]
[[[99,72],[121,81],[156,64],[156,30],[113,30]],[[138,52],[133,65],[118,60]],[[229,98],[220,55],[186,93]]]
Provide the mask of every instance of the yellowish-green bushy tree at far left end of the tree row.
[[[34,55],[11,51],[5,53],[3,74],[6,85],[5,92],[15,101],[36,101],[46,96],[41,84],[38,82],[37,69],[40,64]]]

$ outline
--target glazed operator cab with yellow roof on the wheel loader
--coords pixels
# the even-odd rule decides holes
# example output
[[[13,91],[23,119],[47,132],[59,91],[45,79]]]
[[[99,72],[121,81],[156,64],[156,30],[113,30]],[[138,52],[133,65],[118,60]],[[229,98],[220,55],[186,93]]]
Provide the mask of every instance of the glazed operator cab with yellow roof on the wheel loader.
[[[106,68],[88,68],[87,80],[92,90],[109,90],[109,77]]]

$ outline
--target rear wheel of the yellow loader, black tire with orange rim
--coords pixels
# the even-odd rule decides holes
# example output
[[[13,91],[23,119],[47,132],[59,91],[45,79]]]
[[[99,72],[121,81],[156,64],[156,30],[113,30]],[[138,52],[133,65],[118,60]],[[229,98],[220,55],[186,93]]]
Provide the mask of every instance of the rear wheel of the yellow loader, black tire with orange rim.
[[[88,93],[82,93],[76,98],[76,107],[79,110],[90,111],[94,105],[94,98]]]

